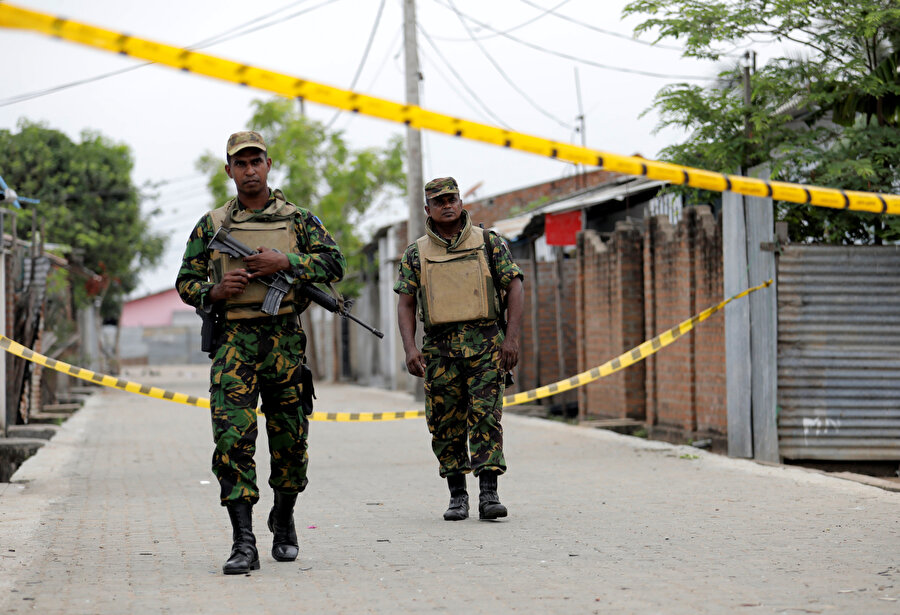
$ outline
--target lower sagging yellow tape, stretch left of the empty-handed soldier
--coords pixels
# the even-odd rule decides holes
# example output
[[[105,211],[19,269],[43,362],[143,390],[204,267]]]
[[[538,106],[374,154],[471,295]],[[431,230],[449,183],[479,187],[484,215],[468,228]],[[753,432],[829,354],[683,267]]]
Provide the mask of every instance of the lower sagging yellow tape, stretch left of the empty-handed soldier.
[[[13,341],[6,337],[5,335],[0,335],[0,348],[5,350],[10,354],[14,354],[17,357],[21,357],[26,361],[31,361],[32,363],[37,363],[38,365],[43,365],[44,367],[48,367],[50,369],[54,369],[58,372],[62,372],[63,374],[67,374],[69,376],[73,376],[75,378],[80,378],[81,380],[87,380],[88,382],[93,382],[94,384],[99,384],[101,386],[109,387],[111,389],[118,389],[120,391],[126,391],[128,393],[137,393],[139,395],[146,395],[147,397],[153,397],[154,399],[164,399],[166,401],[172,401],[177,404],[186,404],[188,406],[197,406],[198,408],[209,408],[209,399],[205,397],[195,397],[193,395],[185,395],[184,393],[175,393],[174,391],[167,391],[165,389],[160,389],[157,387],[150,387],[144,384],[139,384],[137,382],[129,382],[128,380],[122,380],[121,378],[116,378],[114,376],[108,376],[106,374],[100,374],[97,372],[92,372],[89,369],[84,369],[83,367],[76,367],[74,365],[70,365],[64,361],[57,361],[56,359],[51,359],[50,357],[46,357],[38,352],[31,350],[30,348],[26,348],[22,344]],[[257,414],[262,414],[262,411],[257,408]],[[396,421],[400,419],[418,419],[425,416],[424,410],[407,410],[405,412],[316,412],[314,411],[309,419],[311,421],[330,421],[330,422],[338,422],[338,423],[347,423],[347,422],[359,422],[359,423],[369,423],[374,421]]]

